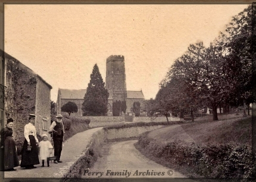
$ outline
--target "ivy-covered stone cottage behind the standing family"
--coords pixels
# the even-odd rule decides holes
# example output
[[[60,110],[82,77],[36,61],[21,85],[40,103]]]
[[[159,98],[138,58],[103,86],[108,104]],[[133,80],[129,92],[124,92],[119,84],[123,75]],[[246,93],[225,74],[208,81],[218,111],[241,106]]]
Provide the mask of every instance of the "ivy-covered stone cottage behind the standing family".
[[[14,119],[14,136],[24,138],[24,125],[29,114],[35,114],[38,134],[46,133],[51,124],[52,86],[20,61],[1,51],[1,70],[4,72],[4,122]]]

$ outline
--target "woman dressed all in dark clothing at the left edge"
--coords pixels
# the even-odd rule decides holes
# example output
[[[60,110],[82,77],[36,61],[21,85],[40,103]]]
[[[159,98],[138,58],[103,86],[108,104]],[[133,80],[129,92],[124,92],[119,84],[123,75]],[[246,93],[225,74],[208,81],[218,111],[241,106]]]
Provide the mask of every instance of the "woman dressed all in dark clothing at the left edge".
[[[1,170],[15,171],[19,165],[18,155],[13,139],[13,119],[7,120],[7,127],[1,130]],[[3,159],[3,160],[2,160]]]

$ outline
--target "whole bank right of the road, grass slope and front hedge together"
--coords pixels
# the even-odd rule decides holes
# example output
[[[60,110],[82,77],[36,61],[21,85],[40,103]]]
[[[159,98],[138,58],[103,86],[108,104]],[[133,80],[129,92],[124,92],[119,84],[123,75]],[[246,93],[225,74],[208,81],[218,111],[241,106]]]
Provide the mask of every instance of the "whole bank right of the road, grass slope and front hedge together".
[[[256,170],[251,118],[159,128],[143,134],[136,148],[190,178],[249,179]]]

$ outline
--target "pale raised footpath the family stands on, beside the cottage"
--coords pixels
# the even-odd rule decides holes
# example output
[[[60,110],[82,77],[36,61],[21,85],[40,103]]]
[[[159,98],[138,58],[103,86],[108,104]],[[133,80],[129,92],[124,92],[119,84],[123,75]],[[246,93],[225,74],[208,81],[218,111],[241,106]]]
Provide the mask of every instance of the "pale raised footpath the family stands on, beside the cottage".
[[[73,165],[74,162],[77,161],[81,153],[86,149],[86,146],[92,138],[92,134],[101,129],[102,127],[92,128],[90,130],[77,133],[64,141],[63,150],[61,152],[61,161],[63,161],[63,163],[54,164],[53,161],[50,161],[50,167],[47,167],[47,164],[45,167],[41,167],[42,161],[40,161],[40,164],[35,165],[35,167],[37,168],[32,170],[26,170],[24,168],[16,167],[15,169],[17,171],[1,172],[0,181],[2,181],[3,178],[4,181],[10,181],[12,179],[20,180],[22,178],[60,179],[61,177],[63,177],[63,174],[65,174],[65,172],[69,170],[71,165]],[[2,175],[4,175],[4,177]]]

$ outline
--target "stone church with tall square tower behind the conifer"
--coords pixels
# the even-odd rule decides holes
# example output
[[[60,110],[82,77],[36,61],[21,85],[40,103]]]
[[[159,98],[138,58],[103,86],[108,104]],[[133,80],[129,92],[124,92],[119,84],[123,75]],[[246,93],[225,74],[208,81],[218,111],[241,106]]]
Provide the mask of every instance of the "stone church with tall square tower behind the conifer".
[[[108,115],[112,115],[114,101],[126,101],[126,112],[133,111],[134,102],[140,102],[143,107],[143,101],[145,101],[145,98],[142,90],[133,91],[126,89],[124,56],[111,55],[107,58],[105,88],[108,90],[108,93],[110,93],[110,96],[108,97]],[[56,103],[57,114],[65,114],[65,112],[61,112],[61,106],[68,101],[71,101],[77,103],[78,108],[78,112],[71,113],[71,115],[82,116],[82,103],[85,93],[86,89],[59,89]]]

